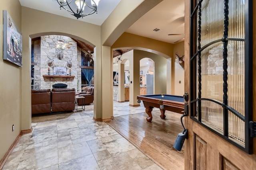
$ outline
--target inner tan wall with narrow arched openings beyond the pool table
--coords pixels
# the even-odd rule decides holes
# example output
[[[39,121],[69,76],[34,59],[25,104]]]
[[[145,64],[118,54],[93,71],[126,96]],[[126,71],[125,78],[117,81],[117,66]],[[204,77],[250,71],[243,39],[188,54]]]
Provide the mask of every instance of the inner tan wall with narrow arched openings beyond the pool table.
[[[137,95],[140,95],[140,60],[143,58],[150,58],[154,61],[155,68],[154,68],[154,94],[160,94],[164,93],[166,94],[166,70],[167,70],[167,64],[166,64],[166,58],[150,53],[147,51],[142,50],[132,50],[128,53],[124,53],[122,55],[122,62],[118,63],[118,79],[124,80],[122,74],[124,72],[124,68],[121,68],[121,64],[123,65],[126,60],[129,60],[130,66],[129,66],[129,75],[130,75],[130,82],[129,84],[130,88],[130,95],[129,95],[129,104],[130,106],[136,106],[137,103]],[[163,83],[157,83],[157,82],[163,82]],[[122,86],[122,82],[119,82],[118,91],[120,92],[118,94],[119,99],[124,99],[124,86]]]

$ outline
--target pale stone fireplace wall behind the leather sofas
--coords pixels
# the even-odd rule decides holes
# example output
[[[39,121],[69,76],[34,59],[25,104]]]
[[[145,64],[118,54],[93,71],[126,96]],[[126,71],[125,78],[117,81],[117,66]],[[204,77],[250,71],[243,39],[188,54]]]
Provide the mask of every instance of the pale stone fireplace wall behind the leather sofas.
[[[70,48],[65,48],[63,50],[63,59],[59,60],[57,58],[56,45],[58,40],[62,39]],[[40,48],[39,48],[40,47]],[[48,66],[48,60],[53,59],[53,65]],[[72,67],[67,66],[67,61],[72,62]],[[70,37],[60,36],[60,35],[46,35],[42,36],[41,40],[34,42],[34,85],[35,89],[52,89],[53,84],[63,83],[67,84],[67,88],[78,89],[77,80],[81,82],[81,49],[77,47],[77,44]],[[71,69],[71,76],[75,78],[44,78],[43,75],[48,75],[48,68],[50,68],[50,75],[53,75],[53,67],[66,67],[67,74],[69,74],[69,69]],[[79,86],[81,83],[79,83]],[[81,92],[81,86],[79,87],[79,92]]]

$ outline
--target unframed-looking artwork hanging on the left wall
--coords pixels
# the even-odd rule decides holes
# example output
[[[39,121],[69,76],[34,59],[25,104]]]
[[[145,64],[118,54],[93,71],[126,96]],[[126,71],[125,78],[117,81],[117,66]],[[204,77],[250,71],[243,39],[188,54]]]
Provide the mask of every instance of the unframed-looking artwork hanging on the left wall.
[[[4,60],[22,66],[22,34],[6,10],[3,10]]]

